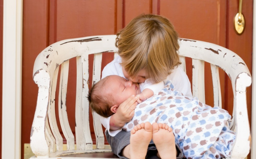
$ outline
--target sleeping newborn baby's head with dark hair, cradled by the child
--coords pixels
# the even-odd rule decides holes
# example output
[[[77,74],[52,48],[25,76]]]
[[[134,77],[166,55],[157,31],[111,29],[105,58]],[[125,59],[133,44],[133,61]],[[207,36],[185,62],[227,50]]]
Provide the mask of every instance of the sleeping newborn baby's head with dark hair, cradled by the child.
[[[138,84],[117,75],[106,76],[94,84],[88,95],[90,107],[103,117],[116,113],[118,106],[131,95],[141,93]]]

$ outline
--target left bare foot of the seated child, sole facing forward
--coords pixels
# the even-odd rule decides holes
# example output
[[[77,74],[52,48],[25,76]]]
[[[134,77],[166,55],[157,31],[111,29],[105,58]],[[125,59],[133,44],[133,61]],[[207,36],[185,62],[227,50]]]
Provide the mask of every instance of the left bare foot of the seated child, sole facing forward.
[[[145,159],[147,148],[152,139],[152,125],[145,122],[131,130],[130,157],[131,159]]]

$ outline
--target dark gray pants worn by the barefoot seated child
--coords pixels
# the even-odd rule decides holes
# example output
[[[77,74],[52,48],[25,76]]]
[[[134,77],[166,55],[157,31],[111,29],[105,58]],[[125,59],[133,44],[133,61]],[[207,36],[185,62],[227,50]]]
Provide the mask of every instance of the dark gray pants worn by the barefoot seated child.
[[[117,155],[119,158],[125,158],[121,156],[121,152],[123,148],[130,144],[130,132],[127,131],[120,131],[115,136],[110,136],[108,131],[105,131],[106,139],[111,146],[112,152]],[[183,153],[180,147],[176,144],[177,150],[177,157],[176,159],[182,159]],[[150,144],[148,145],[146,159],[159,159],[157,156],[157,149],[154,142],[151,140]]]

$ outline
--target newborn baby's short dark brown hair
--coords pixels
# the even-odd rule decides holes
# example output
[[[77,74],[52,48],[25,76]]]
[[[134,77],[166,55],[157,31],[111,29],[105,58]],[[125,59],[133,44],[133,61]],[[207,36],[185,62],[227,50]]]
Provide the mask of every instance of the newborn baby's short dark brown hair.
[[[91,109],[105,118],[114,114],[110,109],[114,99],[111,94],[106,94],[105,90],[108,78],[109,76],[94,84],[87,96]]]

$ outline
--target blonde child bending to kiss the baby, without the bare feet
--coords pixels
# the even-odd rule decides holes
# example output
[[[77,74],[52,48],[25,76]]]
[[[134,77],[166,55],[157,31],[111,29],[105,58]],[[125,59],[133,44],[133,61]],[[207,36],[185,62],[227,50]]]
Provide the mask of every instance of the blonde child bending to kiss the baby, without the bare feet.
[[[144,88],[154,93],[158,91],[159,85],[163,85],[162,81],[171,80],[177,90],[192,98],[188,77],[179,67],[178,34],[168,19],[152,14],[132,19],[117,33],[116,46],[119,56],[103,69],[102,78],[118,75],[133,83],[143,83]],[[142,92],[140,99],[144,95]],[[100,117],[102,125],[106,128],[106,139],[113,153],[120,158],[131,158],[131,154],[140,153],[139,149],[130,149],[130,133],[122,130],[132,119],[137,100],[137,97],[128,98],[120,104],[115,114],[108,118]],[[177,159],[181,158],[182,153],[177,156]]]

